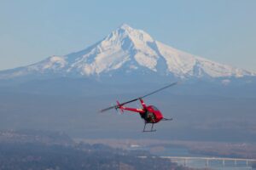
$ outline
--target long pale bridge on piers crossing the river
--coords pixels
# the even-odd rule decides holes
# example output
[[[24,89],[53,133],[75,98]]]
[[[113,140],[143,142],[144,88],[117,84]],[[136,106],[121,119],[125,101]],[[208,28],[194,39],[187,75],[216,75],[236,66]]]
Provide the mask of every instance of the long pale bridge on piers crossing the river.
[[[171,161],[183,161],[183,165],[186,166],[189,160],[201,160],[206,162],[206,167],[209,167],[210,161],[222,161],[223,166],[225,166],[226,161],[233,161],[234,165],[237,165],[237,161],[244,161],[245,164],[251,164],[253,161],[256,162],[256,159],[247,159],[247,158],[229,158],[229,157],[190,157],[190,156],[160,156],[164,159],[170,159]]]

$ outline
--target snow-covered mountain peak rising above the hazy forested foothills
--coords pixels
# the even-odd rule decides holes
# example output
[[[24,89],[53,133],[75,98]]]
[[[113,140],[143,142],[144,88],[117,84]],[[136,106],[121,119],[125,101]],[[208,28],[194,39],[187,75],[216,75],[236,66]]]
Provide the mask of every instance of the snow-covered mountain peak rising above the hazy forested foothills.
[[[1,71],[0,78],[31,75],[101,77],[112,76],[117,72],[154,73],[177,78],[256,75],[185,53],[154,40],[145,31],[122,25],[89,48],[64,56],[51,56],[33,65]]]

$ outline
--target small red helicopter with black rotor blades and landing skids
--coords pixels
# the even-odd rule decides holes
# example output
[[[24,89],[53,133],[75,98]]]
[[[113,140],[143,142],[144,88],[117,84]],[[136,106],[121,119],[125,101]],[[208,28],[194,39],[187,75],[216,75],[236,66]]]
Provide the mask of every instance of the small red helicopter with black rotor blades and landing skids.
[[[120,110],[122,112],[124,111],[133,111],[133,112],[137,112],[140,114],[140,116],[144,119],[144,128],[143,128],[143,132],[155,132],[156,130],[153,129],[154,128],[154,124],[157,123],[157,122],[160,122],[160,121],[172,121],[172,118],[171,119],[167,119],[167,118],[164,118],[163,115],[161,114],[161,112],[154,106],[154,105],[146,105],[143,101],[143,98],[151,95],[151,94],[155,94],[165,88],[170,88],[174,85],[176,85],[177,82],[173,82],[172,84],[169,84],[168,86],[164,87],[164,88],[160,88],[158,90],[155,90],[154,92],[150,93],[150,94],[146,94],[142,97],[139,97],[137,99],[131,99],[130,101],[126,101],[124,103],[121,103],[119,104],[119,101],[117,101],[117,105],[113,105],[111,107],[108,107],[106,109],[103,109],[101,112],[103,111],[108,111],[108,110],[111,110],[111,109],[115,109],[116,111],[117,110]],[[134,102],[134,101],[137,101],[137,100],[140,100],[143,108],[142,109],[136,109],[136,108],[130,108],[130,107],[125,107],[124,105],[126,104],[129,104],[131,102]],[[146,128],[146,125],[148,123],[151,123],[151,129],[150,130],[145,130]]]

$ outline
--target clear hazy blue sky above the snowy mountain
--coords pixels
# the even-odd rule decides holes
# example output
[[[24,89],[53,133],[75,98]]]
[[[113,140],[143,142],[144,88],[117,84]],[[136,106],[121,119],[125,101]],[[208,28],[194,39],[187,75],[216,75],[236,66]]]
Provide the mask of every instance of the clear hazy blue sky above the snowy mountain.
[[[79,51],[122,23],[174,48],[256,71],[255,0],[0,0],[0,70]]]

